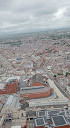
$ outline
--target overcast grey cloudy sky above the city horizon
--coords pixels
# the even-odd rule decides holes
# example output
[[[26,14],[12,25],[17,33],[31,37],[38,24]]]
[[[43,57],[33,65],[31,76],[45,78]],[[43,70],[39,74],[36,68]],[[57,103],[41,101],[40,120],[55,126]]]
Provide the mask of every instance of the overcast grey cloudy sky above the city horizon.
[[[70,27],[70,0],[0,0],[0,33]]]

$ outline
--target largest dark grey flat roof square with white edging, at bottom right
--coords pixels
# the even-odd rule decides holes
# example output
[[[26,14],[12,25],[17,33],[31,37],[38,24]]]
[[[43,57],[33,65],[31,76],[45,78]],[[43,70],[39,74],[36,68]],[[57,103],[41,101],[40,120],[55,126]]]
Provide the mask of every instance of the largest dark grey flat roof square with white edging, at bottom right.
[[[53,125],[55,127],[68,125],[68,123],[66,122],[64,116],[53,116],[52,117],[52,121],[53,121]]]

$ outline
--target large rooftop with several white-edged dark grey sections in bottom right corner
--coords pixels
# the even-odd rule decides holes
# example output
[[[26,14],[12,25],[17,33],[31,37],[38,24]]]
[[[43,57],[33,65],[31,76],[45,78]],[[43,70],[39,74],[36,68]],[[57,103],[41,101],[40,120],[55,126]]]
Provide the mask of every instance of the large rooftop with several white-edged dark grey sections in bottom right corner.
[[[59,127],[70,126],[70,111],[66,109],[38,110],[27,112],[27,118],[33,118],[35,127]]]

